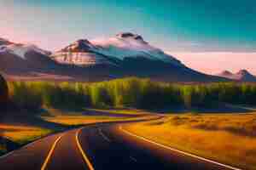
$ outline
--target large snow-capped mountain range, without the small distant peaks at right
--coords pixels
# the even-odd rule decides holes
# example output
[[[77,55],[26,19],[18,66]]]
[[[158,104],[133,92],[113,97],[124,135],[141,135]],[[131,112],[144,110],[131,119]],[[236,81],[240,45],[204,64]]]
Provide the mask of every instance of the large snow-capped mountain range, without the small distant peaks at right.
[[[0,43],[0,71],[19,80],[94,82],[120,77],[148,77],[165,82],[227,80],[192,70],[131,32],[108,39],[80,39],[52,54],[35,45],[4,39]]]

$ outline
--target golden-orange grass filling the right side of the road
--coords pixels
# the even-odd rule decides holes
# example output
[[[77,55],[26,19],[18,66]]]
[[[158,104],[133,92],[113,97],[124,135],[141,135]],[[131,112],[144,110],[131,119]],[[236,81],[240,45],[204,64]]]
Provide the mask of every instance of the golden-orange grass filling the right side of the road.
[[[137,123],[127,130],[235,167],[256,169],[256,114],[182,115]]]

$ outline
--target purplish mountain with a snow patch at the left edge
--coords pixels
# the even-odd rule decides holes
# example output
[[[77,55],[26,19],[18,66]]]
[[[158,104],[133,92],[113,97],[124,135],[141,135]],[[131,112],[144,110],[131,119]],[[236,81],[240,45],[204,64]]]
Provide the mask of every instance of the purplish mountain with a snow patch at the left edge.
[[[3,40],[3,39],[2,39]],[[36,71],[55,65],[49,52],[35,45],[0,41],[0,68],[7,72]]]

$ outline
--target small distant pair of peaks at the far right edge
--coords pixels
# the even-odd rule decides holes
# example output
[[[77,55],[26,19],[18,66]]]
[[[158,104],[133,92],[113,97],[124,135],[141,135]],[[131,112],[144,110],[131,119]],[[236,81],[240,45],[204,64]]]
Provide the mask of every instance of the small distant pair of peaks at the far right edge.
[[[232,80],[241,81],[241,82],[256,82],[256,77],[253,76],[247,70],[241,70],[236,73],[230,71],[223,71],[218,74],[219,77],[230,78]]]

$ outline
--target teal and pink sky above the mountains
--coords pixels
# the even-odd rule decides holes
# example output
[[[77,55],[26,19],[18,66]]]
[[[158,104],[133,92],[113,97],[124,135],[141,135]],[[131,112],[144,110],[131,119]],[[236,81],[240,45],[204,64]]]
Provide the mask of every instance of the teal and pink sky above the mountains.
[[[255,0],[0,0],[0,37],[56,50],[131,31],[196,70],[256,75],[255,16]]]

